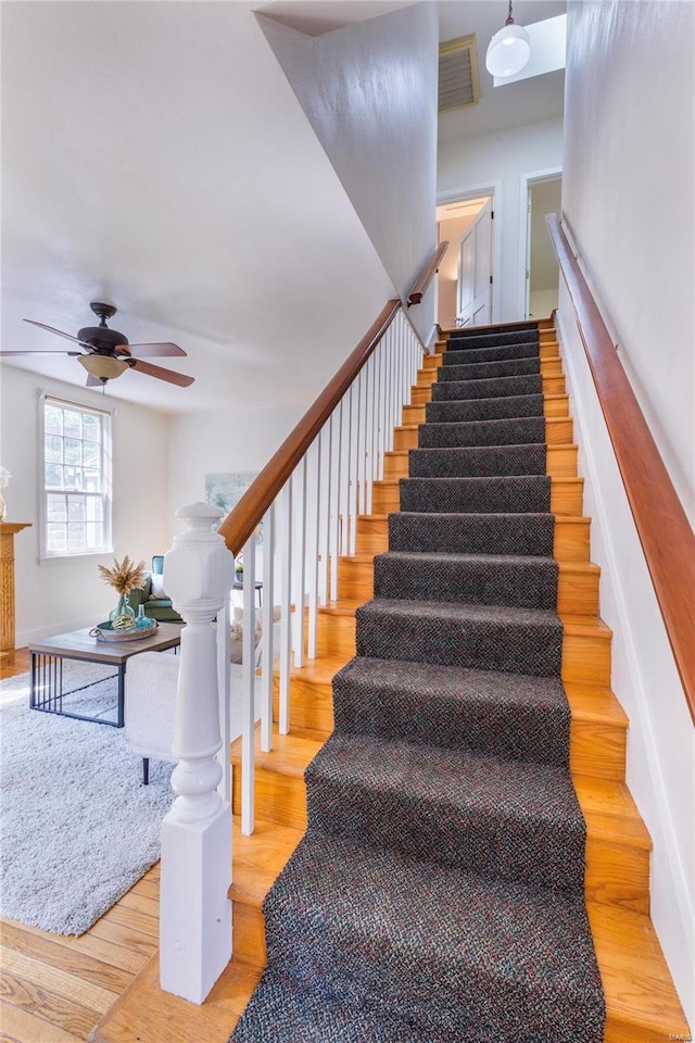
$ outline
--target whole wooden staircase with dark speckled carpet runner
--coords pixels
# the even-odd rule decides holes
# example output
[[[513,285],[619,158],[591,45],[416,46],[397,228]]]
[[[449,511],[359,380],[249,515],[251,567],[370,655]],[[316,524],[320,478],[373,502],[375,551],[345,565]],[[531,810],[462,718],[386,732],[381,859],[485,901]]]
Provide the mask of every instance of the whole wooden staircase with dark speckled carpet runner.
[[[233,1043],[687,1038],[576,462],[547,326],[425,359],[294,671],[292,736],[257,753],[275,865],[309,828],[265,900],[269,969]],[[261,966],[275,869],[253,893],[243,875],[236,957]]]

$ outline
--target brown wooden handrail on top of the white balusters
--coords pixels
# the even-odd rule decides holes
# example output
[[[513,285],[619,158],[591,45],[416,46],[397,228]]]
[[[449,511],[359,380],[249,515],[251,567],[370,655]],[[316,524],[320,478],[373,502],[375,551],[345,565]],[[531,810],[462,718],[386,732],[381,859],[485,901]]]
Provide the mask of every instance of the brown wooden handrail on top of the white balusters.
[[[348,356],[332,380],[326,385],[314,404],[309,406],[237,506],[219,526],[218,532],[224,537],[235,556],[242,550],[282,486],[375,351],[400,307],[399,300],[388,301],[384,304],[355,350]]]

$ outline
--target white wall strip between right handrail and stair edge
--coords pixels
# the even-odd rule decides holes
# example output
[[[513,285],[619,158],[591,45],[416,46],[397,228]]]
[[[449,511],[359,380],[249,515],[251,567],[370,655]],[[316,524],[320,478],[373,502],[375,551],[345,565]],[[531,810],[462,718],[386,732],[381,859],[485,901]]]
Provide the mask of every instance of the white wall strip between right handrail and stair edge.
[[[652,919],[694,1025],[693,725],[563,280],[558,317],[601,616],[614,631],[612,689],[630,718],[628,786],[654,844]]]

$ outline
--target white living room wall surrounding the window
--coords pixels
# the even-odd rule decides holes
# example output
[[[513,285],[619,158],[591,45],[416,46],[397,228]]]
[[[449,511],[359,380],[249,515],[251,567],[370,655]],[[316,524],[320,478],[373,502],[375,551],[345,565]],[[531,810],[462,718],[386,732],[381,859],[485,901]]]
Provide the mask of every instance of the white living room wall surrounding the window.
[[[91,627],[115,604],[114,592],[97,565],[110,555],[39,562],[40,394],[48,392],[80,405],[113,410],[114,554],[149,564],[170,542],[168,524],[169,420],[164,414],[110,400],[24,369],[5,366],[0,388],[0,460],[12,473],[4,490],[9,522],[29,522],[14,540],[16,646],[51,633]]]

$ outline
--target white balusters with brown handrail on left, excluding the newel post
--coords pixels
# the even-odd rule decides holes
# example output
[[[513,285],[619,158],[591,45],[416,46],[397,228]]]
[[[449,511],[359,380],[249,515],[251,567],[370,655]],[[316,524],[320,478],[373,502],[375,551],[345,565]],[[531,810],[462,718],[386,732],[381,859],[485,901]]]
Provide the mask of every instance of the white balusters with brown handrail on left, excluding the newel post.
[[[419,303],[447,243],[442,243],[408,294]],[[339,560],[354,554],[357,519],[371,511],[374,482],[383,477],[384,454],[409,401],[425,348],[399,300],[380,314],[332,380],[223,522],[219,535],[232,554],[243,552],[243,682],[241,733],[241,831],[254,829],[255,720],[261,750],[273,743],[274,607],[279,608],[278,730],[290,729],[291,668],[317,652],[320,606],[339,594]],[[254,619],[255,543],[263,540],[263,641],[260,707],[248,654]],[[251,568],[247,563],[250,563]],[[279,581],[276,580],[276,571]]]

